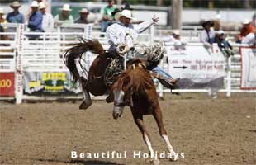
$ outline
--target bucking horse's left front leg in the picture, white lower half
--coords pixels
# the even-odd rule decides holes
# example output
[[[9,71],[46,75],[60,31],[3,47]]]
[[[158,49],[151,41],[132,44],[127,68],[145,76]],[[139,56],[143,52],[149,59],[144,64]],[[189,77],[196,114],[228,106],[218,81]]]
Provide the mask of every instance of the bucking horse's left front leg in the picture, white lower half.
[[[149,149],[150,158],[153,158],[151,160],[151,163],[154,165],[159,165],[159,159],[157,158],[157,155],[155,155],[154,150],[152,148],[152,144],[149,139],[149,134],[147,133],[147,130],[145,129],[145,125],[143,124],[143,115],[138,115],[135,113],[135,110],[131,110],[132,115],[135,120],[135,124],[139,127],[141,134],[143,135],[143,139],[145,141],[145,144],[147,144],[147,147]]]

